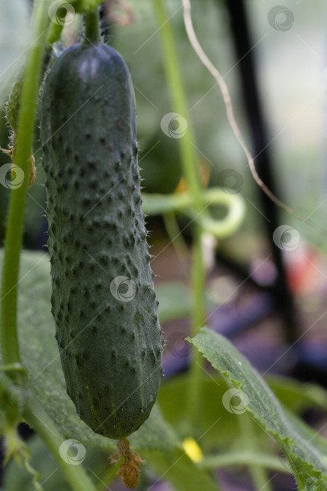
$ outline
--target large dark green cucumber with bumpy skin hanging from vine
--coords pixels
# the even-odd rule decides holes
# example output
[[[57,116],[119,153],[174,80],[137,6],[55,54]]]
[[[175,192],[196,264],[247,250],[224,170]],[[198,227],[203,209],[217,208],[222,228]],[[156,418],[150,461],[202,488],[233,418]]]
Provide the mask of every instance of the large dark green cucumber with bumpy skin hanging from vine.
[[[67,393],[93,431],[125,438],[155,403],[163,338],[141,210],[134,89],[113,48],[76,44],[58,58],[43,86],[41,142]],[[111,295],[117,276],[137,284],[130,302]]]

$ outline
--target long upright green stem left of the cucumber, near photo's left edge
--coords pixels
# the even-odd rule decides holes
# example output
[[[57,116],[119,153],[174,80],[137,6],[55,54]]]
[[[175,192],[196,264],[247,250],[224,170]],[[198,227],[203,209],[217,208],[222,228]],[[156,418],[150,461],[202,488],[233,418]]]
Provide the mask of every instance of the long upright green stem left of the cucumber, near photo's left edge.
[[[39,79],[48,22],[50,22],[48,1],[38,0],[34,8],[32,22],[34,40],[27,53],[15,149],[15,164],[23,170],[25,178],[18,189],[11,191],[5,239],[1,286],[1,348],[4,364],[20,362],[17,333],[20,247],[22,244],[25,199],[29,185],[36,99],[39,92]]]

